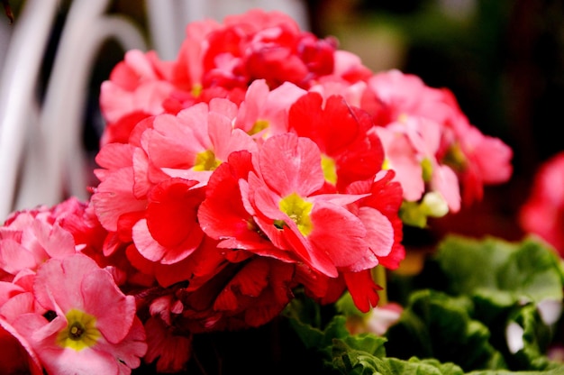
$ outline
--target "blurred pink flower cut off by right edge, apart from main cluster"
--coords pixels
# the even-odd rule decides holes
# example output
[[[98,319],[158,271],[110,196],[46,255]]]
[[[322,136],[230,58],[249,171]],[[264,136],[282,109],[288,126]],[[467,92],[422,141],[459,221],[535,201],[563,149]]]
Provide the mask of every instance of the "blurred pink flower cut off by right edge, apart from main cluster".
[[[544,161],[532,181],[530,196],[521,206],[519,223],[539,235],[564,256],[564,152]]]

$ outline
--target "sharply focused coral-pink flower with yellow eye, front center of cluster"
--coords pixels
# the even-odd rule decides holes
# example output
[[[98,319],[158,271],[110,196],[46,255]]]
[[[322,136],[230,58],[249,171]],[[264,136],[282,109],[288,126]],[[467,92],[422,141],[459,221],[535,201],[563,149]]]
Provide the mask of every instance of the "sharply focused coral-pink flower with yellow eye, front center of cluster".
[[[292,133],[269,138],[244,187],[255,222],[275,246],[291,249],[297,259],[328,276],[336,277],[338,268],[375,266],[366,229],[345,207],[359,197],[315,195],[325,182],[321,161],[319,148],[308,138]]]

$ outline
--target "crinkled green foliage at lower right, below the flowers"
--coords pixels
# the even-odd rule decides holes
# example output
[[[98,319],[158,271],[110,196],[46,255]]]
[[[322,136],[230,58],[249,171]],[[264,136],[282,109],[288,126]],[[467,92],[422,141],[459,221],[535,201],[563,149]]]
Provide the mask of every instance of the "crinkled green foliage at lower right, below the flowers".
[[[563,279],[559,258],[543,242],[450,236],[422,274],[405,284],[413,290],[406,290],[404,313],[386,338],[351,335],[345,316],[355,314],[346,298],[334,306],[344,315],[333,313],[324,325],[319,306],[300,298],[287,316],[305,347],[319,353],[331,373],[564,373],[564,364],[546,356],[559,308],[548,319],[539,308],[547,301],[561,305]],[[507,345],[508,325],[521,327],[517,349]]]

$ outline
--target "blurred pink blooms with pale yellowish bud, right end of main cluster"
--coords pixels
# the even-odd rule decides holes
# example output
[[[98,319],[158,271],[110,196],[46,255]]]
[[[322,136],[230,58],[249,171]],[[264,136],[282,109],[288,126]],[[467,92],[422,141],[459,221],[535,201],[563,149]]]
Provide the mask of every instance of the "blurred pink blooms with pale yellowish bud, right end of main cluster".
[[[367,84],[361,106],[386,129],[378,133],[390,168],[403,181],[406,223],[423,226],[427,215],[455,213],[461,204],[481,199],[484,185],[511,176],[511,149],[470,125],[448,89],[427,87],[421,78],[396,69],[375,74]],[[429,123],[436,128],[432,137],[426,135]],[[394,132],[387,135],[388,128]],[[396,138],[398,131],[404,140]]]

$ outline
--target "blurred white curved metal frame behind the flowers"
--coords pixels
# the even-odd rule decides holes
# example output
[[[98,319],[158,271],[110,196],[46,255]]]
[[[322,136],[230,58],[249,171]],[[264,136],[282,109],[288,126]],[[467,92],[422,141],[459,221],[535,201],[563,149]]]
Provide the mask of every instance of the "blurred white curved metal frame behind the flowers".
[[[174,59],[187,23],[221,21],[252,7],[281,10],[307,29],[299,0],[146,0],[148,42],[129,19],[106,14],[108,4],[71,3],[42,103],[35,90],[59,1],[27,0],[14,23],[0,64],[0,224],[14,210],[55,205],[65,192],[87,198],[82,114],[93,64],[106,40],[113,38],[123,50],[150,45],[161,59]]]

